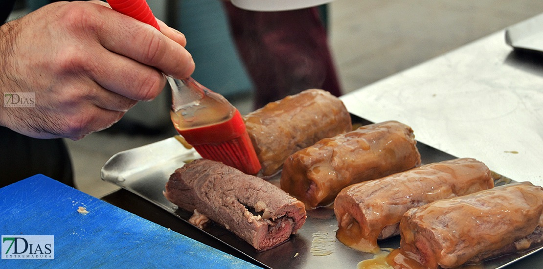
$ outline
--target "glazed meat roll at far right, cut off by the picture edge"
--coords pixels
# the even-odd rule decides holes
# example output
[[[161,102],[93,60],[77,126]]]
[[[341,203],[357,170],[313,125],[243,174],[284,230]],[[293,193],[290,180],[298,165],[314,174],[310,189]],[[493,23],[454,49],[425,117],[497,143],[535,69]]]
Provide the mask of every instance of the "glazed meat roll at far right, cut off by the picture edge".
[[[406,212],[400,253],[428,268],[522,252],[543,243],[543,188],[531,183],[440,200]]]

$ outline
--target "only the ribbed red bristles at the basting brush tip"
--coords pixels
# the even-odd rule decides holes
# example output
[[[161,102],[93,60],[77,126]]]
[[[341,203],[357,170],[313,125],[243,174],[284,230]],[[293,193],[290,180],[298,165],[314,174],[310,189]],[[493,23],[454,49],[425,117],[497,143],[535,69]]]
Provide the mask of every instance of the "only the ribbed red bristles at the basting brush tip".
[[[195,145],[194,148],[201,157],[223,162],[246,174],[256,174],[261,168],[252,144],[243,136],[218,144]]]

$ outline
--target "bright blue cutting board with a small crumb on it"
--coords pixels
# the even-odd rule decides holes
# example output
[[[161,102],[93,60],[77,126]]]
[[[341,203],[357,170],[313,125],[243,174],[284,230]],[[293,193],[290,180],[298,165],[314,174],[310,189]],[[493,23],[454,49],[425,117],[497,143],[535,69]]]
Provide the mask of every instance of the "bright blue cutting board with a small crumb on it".
[[[41,174],[0,189],[0,234],[54,235],[54,259],[0,268],[258,268]]]

